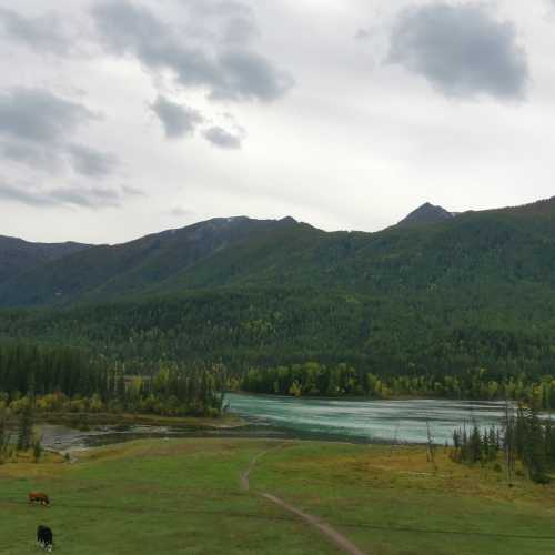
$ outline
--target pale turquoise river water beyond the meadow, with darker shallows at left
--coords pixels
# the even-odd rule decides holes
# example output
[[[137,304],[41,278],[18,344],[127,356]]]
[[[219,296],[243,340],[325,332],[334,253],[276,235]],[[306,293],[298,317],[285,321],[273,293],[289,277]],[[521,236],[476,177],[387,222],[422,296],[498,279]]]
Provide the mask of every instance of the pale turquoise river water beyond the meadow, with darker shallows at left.
[[[345,401],[232,393],[229,411],[246,424],[234,428],[98,426],[80,432],[43,425],[43,445],[60,452],[148,437],[283,437],[349,442],[425,443],[451,441],[453,430],[476,423],[501,426],[503,403],[445,400]]]

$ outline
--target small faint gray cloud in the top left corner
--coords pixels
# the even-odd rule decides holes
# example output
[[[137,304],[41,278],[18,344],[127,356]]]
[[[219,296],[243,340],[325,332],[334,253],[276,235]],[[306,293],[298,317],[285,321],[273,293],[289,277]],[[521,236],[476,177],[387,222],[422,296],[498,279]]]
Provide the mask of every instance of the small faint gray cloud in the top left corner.
[[[65,54],[71,37],[54,14],[26,18],[13,10],[0,8],[0,37],[20,42],[31,50]]]

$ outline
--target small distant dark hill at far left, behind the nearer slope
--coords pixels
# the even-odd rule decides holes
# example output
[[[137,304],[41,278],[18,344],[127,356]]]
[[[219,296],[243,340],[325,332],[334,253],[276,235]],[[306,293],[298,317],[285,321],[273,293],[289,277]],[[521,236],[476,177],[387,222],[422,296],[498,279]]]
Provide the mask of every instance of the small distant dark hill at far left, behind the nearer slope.
[[[30,243],[0,235],[0,283],[89,246],[73,242]]]

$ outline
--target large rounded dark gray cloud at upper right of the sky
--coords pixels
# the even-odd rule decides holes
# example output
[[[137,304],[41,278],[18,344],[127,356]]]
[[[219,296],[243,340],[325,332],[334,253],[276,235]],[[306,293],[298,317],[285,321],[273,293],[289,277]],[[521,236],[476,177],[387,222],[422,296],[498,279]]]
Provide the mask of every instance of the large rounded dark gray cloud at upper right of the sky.
[[[424,77],[446,95],[518,99],[528,82],[515,27],[481,4],[432,3],[403,10],[389,61]]]

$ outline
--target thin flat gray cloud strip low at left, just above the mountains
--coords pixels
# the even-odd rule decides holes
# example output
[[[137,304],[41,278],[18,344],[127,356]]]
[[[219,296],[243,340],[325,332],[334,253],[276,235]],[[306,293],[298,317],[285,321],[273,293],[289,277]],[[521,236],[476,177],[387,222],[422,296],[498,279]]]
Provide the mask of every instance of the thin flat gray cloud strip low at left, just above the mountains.
[[[117,208],[129,193],[123,188],[73,185],[71,188],[41,189],[29,184],[0,182],[0,199],[29,206]]]

